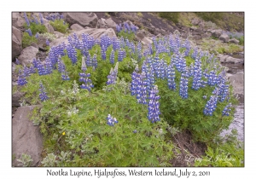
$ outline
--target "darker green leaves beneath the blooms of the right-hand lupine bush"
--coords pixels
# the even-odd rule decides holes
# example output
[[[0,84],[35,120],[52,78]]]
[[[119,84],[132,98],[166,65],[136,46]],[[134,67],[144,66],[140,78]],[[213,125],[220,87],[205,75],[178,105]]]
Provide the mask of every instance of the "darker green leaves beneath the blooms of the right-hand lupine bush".
[[[202,59],[203,60],[203,59]],[[203,60],[205,61],[205,60]],[[192,59],[187,58],[187,65]],[[205,64],[203,62],[203,64]],[[205,67],[207,65],[204,65]],[[203,78],[203,80],[205,80]],[[206,86],[200,90],[191,88],[193,78],[189,78],[189,98],[183,100],[179,91],[180,73],[176,71],[176,90],[169,90],[166,80],[157,79],[156,84],[160,90],[160,112],[161,117],[165,118],[169,124],[178,127],[181,130],[189,130],[196,141],[211,142],[215,136],[227,129],[233,119],[235,107],[232,107],[230,116],[222,116],[222,111],[230,102],[237,104],[238,101],[234,96],[230,96],[230,101],[218,102],[216,111],[212,116],[205,116],[203,110],[207,101],[212,95],[215,86]],[[230,88],[230,94],[232,89]],[[202,96],[207,95],[207,99]]]

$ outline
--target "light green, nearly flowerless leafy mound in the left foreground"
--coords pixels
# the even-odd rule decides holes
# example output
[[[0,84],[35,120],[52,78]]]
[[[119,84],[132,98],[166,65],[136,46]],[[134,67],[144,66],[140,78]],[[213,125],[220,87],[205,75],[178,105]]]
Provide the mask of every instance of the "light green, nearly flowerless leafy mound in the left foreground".
[[[170,135],[166,122],[149,123],[146,106],[138,104],[136,98],[125,95],[117,86],[110,87],[112,90],[105,92],[79,90],[74,95],[75,99],[72,91],[64,91],[54,100],[45,101],[39,114],[47,126],[51,125],[51,130],[45,134],[62,135],[48,137],[48,142],[61,138],[60,150],[73,152],[72,155],[76,156],[69,162],[65,160],[70,166],[170,165],[168,159],[172,158],[172,144],[165,141],[165,136]],[[73,108],[76,113],[71,113]],[[106,119],[108,113],[119,123],[109,126]],[[50,151],[50,147],[48,150],[50,154],[42,164],[55,166],[58,162],[51,154],[54,151]]]

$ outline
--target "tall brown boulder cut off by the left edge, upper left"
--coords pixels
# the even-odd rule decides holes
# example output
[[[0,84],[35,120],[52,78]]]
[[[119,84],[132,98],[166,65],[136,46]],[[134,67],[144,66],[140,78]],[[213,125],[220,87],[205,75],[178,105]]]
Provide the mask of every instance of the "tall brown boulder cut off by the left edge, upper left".
[[[14,60],[22,51],[22,32],[15,26],[12,29],[12,60]]]

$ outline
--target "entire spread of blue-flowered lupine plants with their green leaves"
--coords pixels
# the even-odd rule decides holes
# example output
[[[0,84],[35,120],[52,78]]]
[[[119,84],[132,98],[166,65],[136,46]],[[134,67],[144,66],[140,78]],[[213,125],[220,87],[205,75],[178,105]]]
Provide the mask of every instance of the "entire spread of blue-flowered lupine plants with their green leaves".
[[[26,17],[25,33],[38,36],[29,23]],[[177,130],[205,142],[208,155],[235,159],[196,165],[243,165],[242,147],[216,142],[237,104],[217,59],[177,35],[143,49],[132,40],[136,26],[120,24],[117,32],[100,39],[73,33],[44,62],[18,68],[24,100],[42,105],[32,116],[44,135],[41,166],[172,166]]]

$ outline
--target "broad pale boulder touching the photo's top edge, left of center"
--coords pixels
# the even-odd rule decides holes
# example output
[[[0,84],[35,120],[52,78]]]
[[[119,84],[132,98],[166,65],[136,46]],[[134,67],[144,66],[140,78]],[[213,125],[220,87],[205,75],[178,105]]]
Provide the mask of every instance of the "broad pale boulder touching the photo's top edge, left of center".
[[[95,13],[64,13],[64,20],[66,20],[69,25],[79,24],[83,27],[96,27],[98,17]]]

